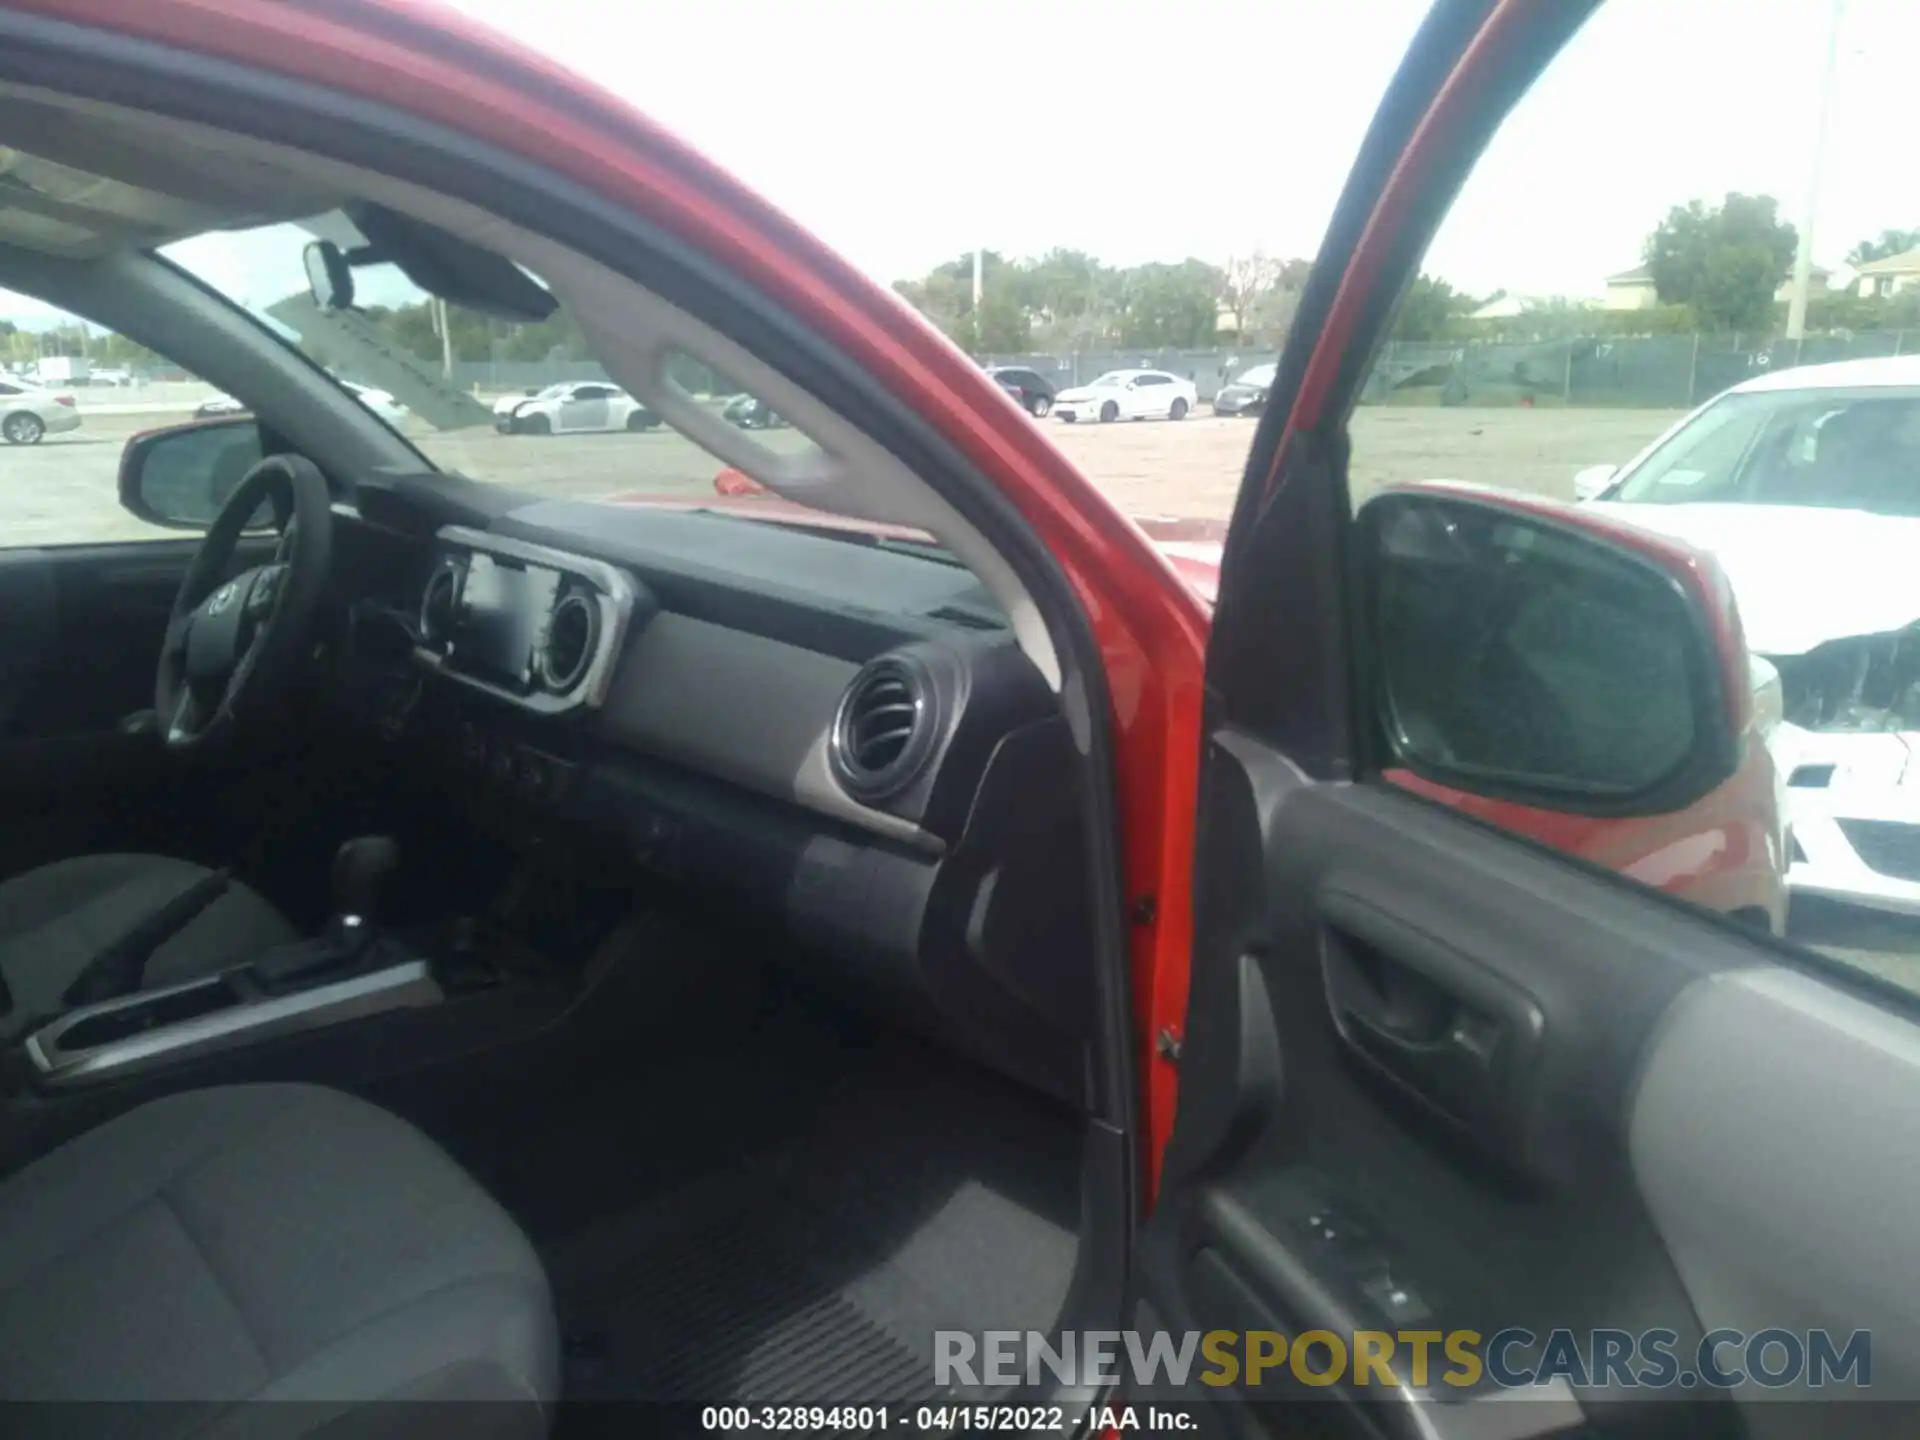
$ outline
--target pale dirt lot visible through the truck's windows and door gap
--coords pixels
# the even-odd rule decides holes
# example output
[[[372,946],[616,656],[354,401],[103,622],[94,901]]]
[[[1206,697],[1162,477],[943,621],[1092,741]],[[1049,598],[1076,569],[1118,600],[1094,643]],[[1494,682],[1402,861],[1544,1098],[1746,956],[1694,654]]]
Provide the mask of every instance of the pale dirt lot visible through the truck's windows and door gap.
[[[86,415],[33,447],[0,447],[0,536],[58,545],[152,534],[119,509],[119,451],[136,430],[188,413]],[[1473,480],[1571,497],[1586,465],[1624,461],[1672,411],[1363,409],[1354,419],[1354,488],[1398,480]],[[1252,420],[1194,415],[1181,422],[1041,422],[1046,436],[1133,515],[1225,518],[1254,438]],[[545,495],[707,493],[720,463],[668,430],[607,436],[415,436],[447,468]],[[793,432],[772,432],[793,444]]]

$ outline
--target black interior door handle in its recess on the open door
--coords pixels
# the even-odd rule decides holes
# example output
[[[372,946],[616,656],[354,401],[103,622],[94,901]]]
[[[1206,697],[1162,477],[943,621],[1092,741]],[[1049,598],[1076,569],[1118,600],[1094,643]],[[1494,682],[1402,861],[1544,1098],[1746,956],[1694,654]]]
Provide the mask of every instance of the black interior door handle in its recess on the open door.
[[[1371,897],[1329,889],[1319,914],[1340,1039],[1453,1125],[1507,1133],[1546,1031],[1534,998]]]

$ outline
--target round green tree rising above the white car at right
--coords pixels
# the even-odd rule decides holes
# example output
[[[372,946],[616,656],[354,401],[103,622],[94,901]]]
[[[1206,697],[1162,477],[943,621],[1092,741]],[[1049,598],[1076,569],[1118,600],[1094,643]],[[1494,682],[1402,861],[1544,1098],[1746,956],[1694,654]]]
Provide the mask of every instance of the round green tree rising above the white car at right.
[[[1799,236],[1772,196],[1728,194],[1674,205],[1644,257],[1665,305],[1686,305],[1701,330],[1764,330]]]

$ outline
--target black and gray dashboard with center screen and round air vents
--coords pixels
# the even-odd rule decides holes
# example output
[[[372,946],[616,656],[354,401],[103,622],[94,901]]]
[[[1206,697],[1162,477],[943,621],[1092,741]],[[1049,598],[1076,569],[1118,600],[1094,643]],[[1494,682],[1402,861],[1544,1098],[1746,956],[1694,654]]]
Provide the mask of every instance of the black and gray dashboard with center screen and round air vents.
[[[868,536],[480,490],[361,490],[367,574],[407,576],[359,601],[388,636],[349,647],[340,693],[382,697],[361,718],[507,843],[714,895],[783,960],[1079,1098],[1077,753],[979,582]]]

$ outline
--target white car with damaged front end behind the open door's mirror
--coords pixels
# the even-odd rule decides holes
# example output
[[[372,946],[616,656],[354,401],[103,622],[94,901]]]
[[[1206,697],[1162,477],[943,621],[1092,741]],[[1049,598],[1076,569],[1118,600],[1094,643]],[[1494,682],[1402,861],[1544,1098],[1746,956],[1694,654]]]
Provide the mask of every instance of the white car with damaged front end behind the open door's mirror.
[[[1789,895],[1920,916],[1920,357],[1749,380],[1576,492],[1726,570],[1782,682]]]

